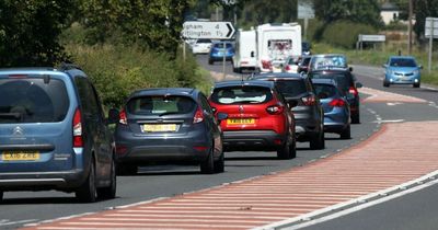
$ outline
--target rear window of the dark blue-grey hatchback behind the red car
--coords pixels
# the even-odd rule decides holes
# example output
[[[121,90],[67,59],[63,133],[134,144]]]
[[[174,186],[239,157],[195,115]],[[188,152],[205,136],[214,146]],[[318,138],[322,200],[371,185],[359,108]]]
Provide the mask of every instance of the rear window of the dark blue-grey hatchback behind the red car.
[[[196,103],[187,96],[142,96],[128,102],[128,113],[135,115],[169,115],[169,114],[188,114],[196,108]]]

